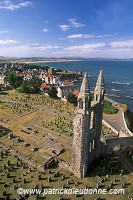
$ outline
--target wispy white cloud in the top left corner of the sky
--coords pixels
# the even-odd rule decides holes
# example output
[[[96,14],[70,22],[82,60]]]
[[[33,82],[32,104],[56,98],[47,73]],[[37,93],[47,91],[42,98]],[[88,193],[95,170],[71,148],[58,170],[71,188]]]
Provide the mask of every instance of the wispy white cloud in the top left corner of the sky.
[[[11,0],[3,0],[0,2],[0,9],[16,10],[21,7],[29,7],[31,5],[30,1],[24,1],[21,3],[13,3]]]

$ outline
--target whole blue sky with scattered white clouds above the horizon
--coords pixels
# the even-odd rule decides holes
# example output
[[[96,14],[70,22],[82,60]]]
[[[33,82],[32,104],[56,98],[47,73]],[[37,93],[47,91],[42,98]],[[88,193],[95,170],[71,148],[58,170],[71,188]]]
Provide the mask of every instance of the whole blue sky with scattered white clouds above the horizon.
[[[133,1],[0,0],[0,56],[133,58]]]

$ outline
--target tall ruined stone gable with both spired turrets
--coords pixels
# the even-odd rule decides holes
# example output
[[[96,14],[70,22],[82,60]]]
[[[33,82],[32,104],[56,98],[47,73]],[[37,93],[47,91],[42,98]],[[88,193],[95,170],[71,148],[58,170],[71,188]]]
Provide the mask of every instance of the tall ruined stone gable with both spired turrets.
[[[90,98],[88,76],[85,73],[73,120],[72,169],[78,178],[84,178],[87,175],[88,167],[100,155],[103,100],[104,79],[102,71],[100,71],[94,91],[94,101],[91,101]]]

